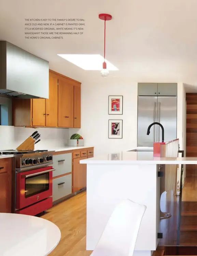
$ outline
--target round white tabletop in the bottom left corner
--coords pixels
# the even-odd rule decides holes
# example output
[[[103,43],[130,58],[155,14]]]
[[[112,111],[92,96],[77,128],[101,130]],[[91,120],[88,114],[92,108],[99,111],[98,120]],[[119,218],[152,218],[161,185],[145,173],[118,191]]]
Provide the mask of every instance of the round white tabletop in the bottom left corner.
[[[46,256],[61,233],[51,221],[23,214],[0,213],[1,256]]]

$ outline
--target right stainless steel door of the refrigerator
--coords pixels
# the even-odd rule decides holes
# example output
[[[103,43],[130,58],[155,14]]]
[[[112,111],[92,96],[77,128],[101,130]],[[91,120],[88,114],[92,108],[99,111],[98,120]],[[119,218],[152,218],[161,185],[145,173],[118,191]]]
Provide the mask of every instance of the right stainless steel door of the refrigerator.
[[[158,97],[157,120],[164,126],[164,142],[177,138],[177,97]],[[161,142],[161,127],[157,125],[157,141]]]

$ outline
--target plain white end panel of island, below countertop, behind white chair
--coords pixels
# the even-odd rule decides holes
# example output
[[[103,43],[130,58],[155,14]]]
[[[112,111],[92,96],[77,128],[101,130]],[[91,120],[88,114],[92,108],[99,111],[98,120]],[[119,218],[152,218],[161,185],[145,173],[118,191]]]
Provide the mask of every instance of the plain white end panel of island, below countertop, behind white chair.
[[[129,198],[147,207],[135,250],[156,250],[158,186],[156,164],[87,164],[86,249],[95,249],[113,209]]]

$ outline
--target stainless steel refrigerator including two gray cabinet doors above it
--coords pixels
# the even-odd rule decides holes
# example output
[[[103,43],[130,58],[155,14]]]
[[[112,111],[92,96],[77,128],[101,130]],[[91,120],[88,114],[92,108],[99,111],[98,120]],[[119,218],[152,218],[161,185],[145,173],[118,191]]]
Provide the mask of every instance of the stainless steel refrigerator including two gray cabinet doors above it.
[[[177,84],[138,83],[138,147],[161,142],[159,125],[153,125],[147,135],[153,122],[164,126],[164,142],[177,138]]]

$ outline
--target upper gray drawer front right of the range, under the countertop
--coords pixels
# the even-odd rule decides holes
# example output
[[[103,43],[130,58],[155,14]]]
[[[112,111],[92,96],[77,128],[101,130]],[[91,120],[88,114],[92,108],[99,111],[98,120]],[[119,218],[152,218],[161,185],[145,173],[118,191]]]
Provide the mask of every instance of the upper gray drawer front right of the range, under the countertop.
[[[53,156],[53,177],[72,172],[72,153]]]

